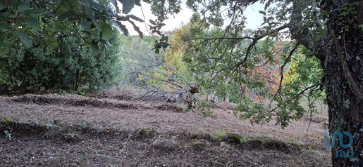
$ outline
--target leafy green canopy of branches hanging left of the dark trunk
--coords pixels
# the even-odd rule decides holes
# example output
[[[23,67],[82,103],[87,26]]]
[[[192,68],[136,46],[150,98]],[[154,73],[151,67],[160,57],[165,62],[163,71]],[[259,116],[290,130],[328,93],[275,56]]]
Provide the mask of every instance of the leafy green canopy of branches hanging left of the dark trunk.
[[[241,119],[260,123],[276,114],[276,123],[285,127],[307,112],[302,100],[316,112],[314,101],[324,99],[319,50],[312,48],[326,27],[315,1],[260,1],[262,27],[245,29],[245,6],[257,2],[187,1],[197,14],[181,37],[183,61],[199,87],[238,102]],[[304,34],[307,28],[311,34]],[[289,39],[299,36],[311,43]]]

